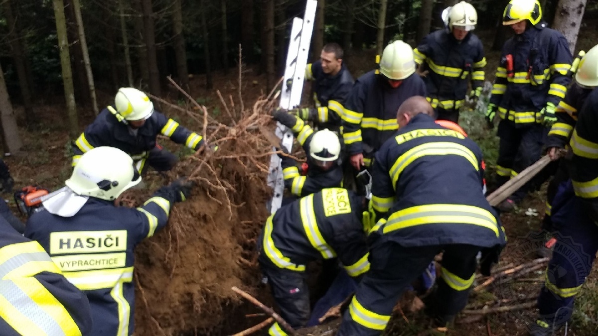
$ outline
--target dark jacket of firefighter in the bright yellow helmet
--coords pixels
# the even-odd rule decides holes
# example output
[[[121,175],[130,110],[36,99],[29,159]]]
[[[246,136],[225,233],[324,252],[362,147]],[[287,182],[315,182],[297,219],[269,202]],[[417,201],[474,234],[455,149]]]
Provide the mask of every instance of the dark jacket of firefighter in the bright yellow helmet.
[[[508,39],[502,48],[490,103],[498,106],[501,119],[519,127],[540,123],[542,118],[537,114],[547,103],[557,106],[565,98],[571,62],[569,44],[560,32],[527,28],[521,35]]]

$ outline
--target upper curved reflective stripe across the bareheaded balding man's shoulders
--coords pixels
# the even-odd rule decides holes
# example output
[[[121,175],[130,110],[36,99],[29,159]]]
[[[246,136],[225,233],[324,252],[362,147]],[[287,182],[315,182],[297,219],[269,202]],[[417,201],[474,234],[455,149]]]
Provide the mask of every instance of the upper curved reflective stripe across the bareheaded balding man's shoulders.
[[[479,170],[478,160],[475,154],[467,147],[453,142],[431,142],[423,143],[409,149],[405,154],[399,156],[395,163],[390,167],[390,178],[392,179],[392,188],[395,188],[396,181],[399,179],[401,172],[409,166],[414,160],[427,155],[459,155],[465,158],[474,166],[475,170]]]

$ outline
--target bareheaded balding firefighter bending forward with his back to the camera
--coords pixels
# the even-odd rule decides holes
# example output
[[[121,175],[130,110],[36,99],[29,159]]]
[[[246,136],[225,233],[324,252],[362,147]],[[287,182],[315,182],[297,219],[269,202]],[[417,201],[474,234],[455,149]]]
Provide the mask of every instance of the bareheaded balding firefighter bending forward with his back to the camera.
[[[399,108],[399,130],[372,167],[377,224],[368,236],[370,271],[344,313],[338,336],[380,335],[398,298],[443,252],[441,277],[428,313],[446,327],[465,307],[476,256],[489,274],[505,245],[499,219],[482,194],[481,149],[434,121],[424,97]]]

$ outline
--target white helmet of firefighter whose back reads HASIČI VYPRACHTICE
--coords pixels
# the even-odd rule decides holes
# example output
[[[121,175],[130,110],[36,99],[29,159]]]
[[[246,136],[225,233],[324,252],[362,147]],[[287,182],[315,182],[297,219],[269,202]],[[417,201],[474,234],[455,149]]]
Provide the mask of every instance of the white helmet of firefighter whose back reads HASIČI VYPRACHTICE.
[[[75,194],[115,200],[141,182],[133,159],[114,147],[96,147],[81,155],[65,184]]]

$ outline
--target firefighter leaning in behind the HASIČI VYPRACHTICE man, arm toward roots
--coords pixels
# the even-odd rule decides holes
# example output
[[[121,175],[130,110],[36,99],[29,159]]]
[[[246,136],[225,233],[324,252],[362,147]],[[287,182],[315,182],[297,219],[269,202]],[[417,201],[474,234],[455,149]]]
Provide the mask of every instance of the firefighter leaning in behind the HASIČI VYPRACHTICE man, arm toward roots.
[[[81,154],[92,148],[110,146],[129,154],[139,173],[145,172],[146,164],[158,172],[170,170],[177,158],[157,144],[158,135],[184,143],[193,150],[204,144],[202,136],[155,111],[154,103],[145,93],[121,87],[114,106],[103,109],[75,141],[72,164],[75,166]]]

